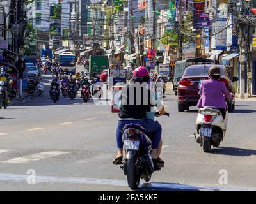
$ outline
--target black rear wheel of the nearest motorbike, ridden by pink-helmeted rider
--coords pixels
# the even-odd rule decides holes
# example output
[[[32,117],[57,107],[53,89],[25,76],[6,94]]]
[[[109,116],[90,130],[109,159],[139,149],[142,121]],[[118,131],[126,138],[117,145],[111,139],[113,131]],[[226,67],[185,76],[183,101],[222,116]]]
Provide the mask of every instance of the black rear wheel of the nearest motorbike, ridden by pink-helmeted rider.
[[[126,163],[128,186],[131,189],[138,189],[140,184],[140,176],[137,174],[136,170],[136,158],[127,159]]]

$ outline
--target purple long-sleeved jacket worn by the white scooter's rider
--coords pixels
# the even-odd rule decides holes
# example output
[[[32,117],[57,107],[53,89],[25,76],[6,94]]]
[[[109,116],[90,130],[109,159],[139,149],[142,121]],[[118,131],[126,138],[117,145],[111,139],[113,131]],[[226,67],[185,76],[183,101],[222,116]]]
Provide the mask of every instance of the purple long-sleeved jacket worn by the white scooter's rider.
[[[201,97],[197,103],[198,108],[214,106],[227,110],[225,98],[232,99],[232,94],[228,91],[225,83],[214,79],[202,81],[199,95]]]

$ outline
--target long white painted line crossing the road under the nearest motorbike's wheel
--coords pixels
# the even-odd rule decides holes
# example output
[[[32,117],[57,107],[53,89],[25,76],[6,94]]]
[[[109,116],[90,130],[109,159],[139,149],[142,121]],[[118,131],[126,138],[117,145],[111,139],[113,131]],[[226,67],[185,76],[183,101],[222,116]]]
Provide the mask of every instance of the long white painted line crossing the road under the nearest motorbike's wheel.
[[[0,181],[15,181],[26,183],[28,175],[18,175],[10,173],[0,173]],[[36,175],[36,184],[39,183],[67,183],[67,184],[105,184],[110,186],[124,186],[128,188],[127,180],[117,179],[97,179],[97,178],[79,178],[79,177],[53,177]],[[159,189],[182,189],[193,191],[256,191],[256,189],[246,189],[239,187],[218,187],[218,186],[195,186],[190,184],[168,184],[168,183],[144,183],[141,188],[152,187]],[[150,190],[150,189],[149,189]]]

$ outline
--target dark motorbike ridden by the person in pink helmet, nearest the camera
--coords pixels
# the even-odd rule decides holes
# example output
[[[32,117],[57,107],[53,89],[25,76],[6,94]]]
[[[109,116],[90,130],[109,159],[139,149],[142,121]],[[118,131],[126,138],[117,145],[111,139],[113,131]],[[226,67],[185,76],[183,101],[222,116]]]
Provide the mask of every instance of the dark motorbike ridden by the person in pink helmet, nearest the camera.
[[[169,116],[169,113],[165,115]],[[156,117],[159,113],[156,112]],[[152,141],[145,134],[146,129],[138,124],[126,124],[123,133],[123,157],[124,163],[121,166],[124,175],[127,176],[128,186],[137,189],[140,179],[150,181],[154,171],[161,170],[160,165],[154,165],[151,157]]]

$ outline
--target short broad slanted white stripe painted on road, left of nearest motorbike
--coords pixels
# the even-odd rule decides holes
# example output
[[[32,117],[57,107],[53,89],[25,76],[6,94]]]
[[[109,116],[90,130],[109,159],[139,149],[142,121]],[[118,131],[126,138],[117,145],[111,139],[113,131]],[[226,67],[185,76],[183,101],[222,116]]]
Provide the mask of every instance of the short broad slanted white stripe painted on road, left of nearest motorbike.
[[[17,158],[9,159],[7,161],[3,161],[3,162],[4,163],[29,163],[29,162],[39,161],[41,159],[47,159],[49,157],[60,156],[61,154],[68,154],[68,153],[70,152],[58,152],[58,151],[40,152],[38,154],[31,154],[24,157],[17,157]]]

